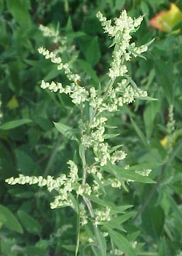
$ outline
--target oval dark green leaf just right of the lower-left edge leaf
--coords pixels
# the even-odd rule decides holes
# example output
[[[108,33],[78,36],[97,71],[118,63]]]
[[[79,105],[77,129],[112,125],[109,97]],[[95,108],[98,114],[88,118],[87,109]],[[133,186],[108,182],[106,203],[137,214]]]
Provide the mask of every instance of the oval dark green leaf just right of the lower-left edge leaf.
[[[26,231],[31,234],[40,235],[41,226],[37,220],[22,210],[18,210],[17,215]]]

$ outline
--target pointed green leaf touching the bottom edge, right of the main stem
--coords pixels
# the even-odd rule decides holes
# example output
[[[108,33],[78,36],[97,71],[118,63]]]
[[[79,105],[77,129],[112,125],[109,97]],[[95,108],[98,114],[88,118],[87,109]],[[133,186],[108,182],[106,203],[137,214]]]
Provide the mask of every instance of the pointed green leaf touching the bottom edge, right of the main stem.
[[[108,233],[119,250],[123,251],[127,256],[136,256],[133,247],[124,236],[112,229],[108,229]]]

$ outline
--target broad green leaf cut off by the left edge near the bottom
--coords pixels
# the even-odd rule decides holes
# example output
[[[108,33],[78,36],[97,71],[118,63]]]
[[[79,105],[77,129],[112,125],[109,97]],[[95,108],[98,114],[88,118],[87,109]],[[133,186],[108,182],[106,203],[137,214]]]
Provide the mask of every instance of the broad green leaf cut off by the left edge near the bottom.
[[[11,211],[5,206],[0,205],[0,222],[4,224],[8,229],[22,234],[23,229],[17,218],[11,213]]]

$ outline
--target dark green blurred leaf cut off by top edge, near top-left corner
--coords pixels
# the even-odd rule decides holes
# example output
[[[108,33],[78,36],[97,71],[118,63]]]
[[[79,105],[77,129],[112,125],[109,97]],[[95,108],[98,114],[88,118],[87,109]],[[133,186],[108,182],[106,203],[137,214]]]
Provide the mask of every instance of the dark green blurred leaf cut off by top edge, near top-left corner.
[[[6,0],[6,5],[13,18],[22,27],[30,27],[31,18],[28,9],[30,8],[30,0]]]

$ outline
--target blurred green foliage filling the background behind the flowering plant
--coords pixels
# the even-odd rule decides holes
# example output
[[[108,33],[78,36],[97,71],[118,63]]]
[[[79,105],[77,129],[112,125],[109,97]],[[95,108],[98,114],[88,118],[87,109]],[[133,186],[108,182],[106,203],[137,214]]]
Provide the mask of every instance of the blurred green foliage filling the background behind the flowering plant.
[[[100,10],[113,19],[122,9],[128,15],[145,14],[133,35],[138,45],[156,38],[145,59],[133,59],[128,66],[138,87],[158,101],[138,100],[114,116],[119,137],[128,156],[125,164],[160,163],[150,177],[156,184],[130,183],[129,192],[110,189],[109,198],[119,205],[134,205],[136,215],[124,225],[139,232],[143,248],[138,255],[175,256],[182,251],[182,22],[162,32],[150,19],[169,10],[169,0],[1,0],[0,1],[0,255],[74,255],[75,215],[70,208],[51,210],[52,195],[34,186],[9,186],[5,178],[24,175],[52,175],[67,171],[76,144],[58,133],[52,121],[77,128],[78,110],[69,97],[43,91],[41,79],[63,81],[56,66],[39,56],[37,48],[56,50],[59,45],[43,37],[39,24],[59,28],[67,37],[67,48],[76,46],[72,69],[82,75],[85,87],[106,81],[111,61],[110,39],[103,35],[95,18]],[[182,1],[174,3],[182,10]],[[173,15],[173,14],[169,14]],[[176,16],[177,17],[177,16]],[[175,18],[175,17],[174,17]],[[166,21],[167,22],[167,21]],[[173,32],[178,29],[178,32]],[[75,58],[74,58],[75,57]],[[78,57],[78,58],[76,58]],[[62,58],[68,61],[68,50]],[[166,124],[173,105],[175,131],[167,143]],[[25,121],[3,128],[9,121]],[[108,122],[109,124],[109,122]],[[13,128],[14,127],[14,128]],[[108,133],[113,131],[108,129]],[[78,152],[77,152],[78,153]],[[81,233],[84,240],[84,232]],[[82,242],[81,239],[81,242]]]

